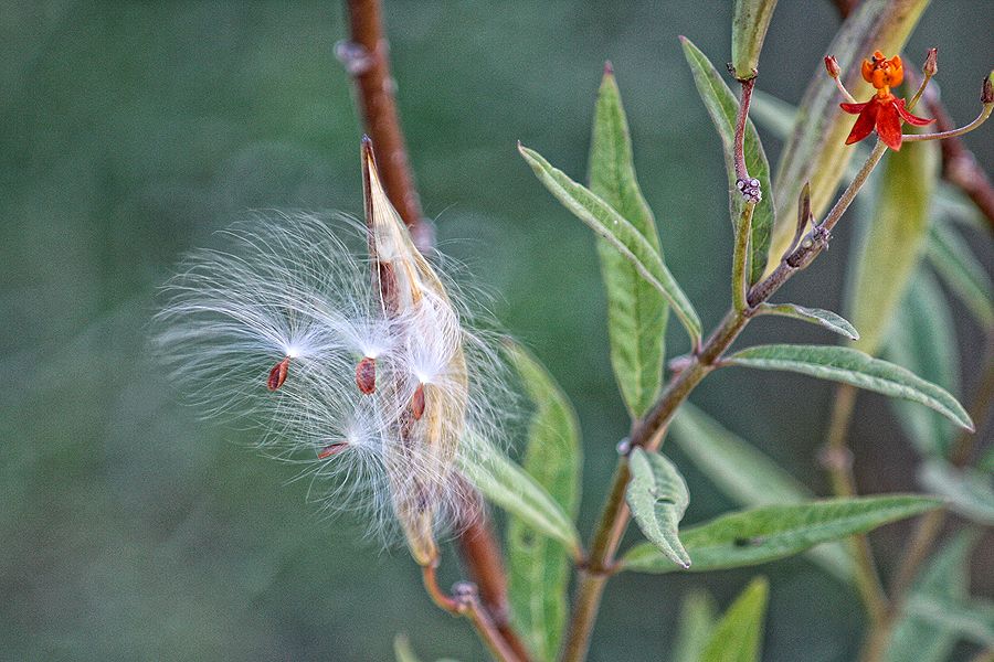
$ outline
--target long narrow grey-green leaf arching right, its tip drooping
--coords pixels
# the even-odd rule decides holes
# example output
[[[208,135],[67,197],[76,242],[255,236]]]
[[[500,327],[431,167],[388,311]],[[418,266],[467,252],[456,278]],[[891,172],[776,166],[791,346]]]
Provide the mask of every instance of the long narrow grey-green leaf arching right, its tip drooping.
[[[931,407],[960,427],[973,430],[970,415],[949,392],[899,365],[852,348],[759,345],[732,354],[728,362],[760,370],[796,372],[905,398]]]

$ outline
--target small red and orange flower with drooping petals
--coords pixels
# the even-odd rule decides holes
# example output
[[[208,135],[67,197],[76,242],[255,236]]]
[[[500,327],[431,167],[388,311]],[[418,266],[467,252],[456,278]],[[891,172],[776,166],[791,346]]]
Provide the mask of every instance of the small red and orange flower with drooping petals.
[[[905,70],[898,55],[887,60],[884,53],[876,51],[873,60],[863,61],[863,78],[877,88],[877,94],[864,104],[839,104],[846,113],[859,116],[853,125],[849,137],[846,138],[846,145],[859,142],[877,129],[877,136],[887,147],[901,149],[902,119],[917,127],[935,121],[911,115],[905,109],[905,99],[899,99],[890,93],[890,87],[900,85],[905,78]]]

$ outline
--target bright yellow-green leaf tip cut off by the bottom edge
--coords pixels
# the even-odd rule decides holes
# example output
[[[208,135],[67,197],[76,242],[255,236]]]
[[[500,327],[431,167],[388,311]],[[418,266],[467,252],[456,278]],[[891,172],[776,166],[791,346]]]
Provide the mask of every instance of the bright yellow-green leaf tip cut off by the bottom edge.
[[[753,579],[715,627],[701,662],[759,662],[770,584]]]

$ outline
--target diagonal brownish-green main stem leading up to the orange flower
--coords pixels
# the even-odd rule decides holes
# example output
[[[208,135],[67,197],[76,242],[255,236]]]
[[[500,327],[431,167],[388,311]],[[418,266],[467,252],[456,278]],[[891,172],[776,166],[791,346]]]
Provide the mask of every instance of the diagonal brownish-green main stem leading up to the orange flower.
[[[687,399],[694,388],[712,370],[718,366],[721,355],[731,346],[739,333],[749,320],[755,314],[758,306],[769,299],[794,274],[806,267],[827,245],[828,231],[831,231],[845,211],[855,200],[856,194],[866,183],[869,173],[880,161],[887,146],[877,143],[870,152],[866,163],[859,173],[843,192],[838,202],[828,212],[828,216],[818,227],[812,231],[808,239],[801,242],[789,256],[784,257],[781,265],[764,280],[758,282],[749,292],[748,308],[745,310],[729,310],[717,329],[708,337],[701,348],[695,352],[686,365],[666,385],[659,401],[641,420],[632,424],[632,433],[628,437],[628,452],[632,448],[642,447],[646,450],[658,450],[663,444],[666,428],[677,408]],[[601,511],[601,517],[590,545],[588,562],[580,569],[577,591],[573,599],[573,611],[570,615],[567,639],[560,654],[561,662],[581,662],[585,659],[590,648],[590,636],[593,631],[601,597],[607,578],[614,572],[614,554],[627,527],[631,513],[625,503],[625,487],[628,483],[630,471],[627,453],[618,459],[614,471],[611,491]]]

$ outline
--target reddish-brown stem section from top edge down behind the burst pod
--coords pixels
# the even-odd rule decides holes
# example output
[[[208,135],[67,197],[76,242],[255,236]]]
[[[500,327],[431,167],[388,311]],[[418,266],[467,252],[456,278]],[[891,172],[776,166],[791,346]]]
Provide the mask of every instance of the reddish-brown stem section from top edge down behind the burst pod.
[[[387,195],[410,228],[414,243],[425,249],[431,246],[431,231],[423,222],[421,201],[408,163],[380,0],[347,0],[346,4],[351,41],[340,45],[338,54],[356,82],[359,109],[366,131],[377,146]]]

